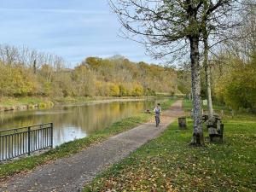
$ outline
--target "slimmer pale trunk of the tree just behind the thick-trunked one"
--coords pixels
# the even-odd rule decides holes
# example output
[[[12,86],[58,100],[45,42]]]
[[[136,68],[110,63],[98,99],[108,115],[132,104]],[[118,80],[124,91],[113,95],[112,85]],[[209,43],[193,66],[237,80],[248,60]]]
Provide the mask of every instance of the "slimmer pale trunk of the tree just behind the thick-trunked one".
[[[212,121],[213,119],[213,108],[212,108],[212,90],[211,90],[211,71],[208,61],[208,52],[209,52],[209,45],[208,45],[208,35],[205,33],[204,38],[204,67],[206,73],[206,84],[207,84],[207,107],[208,107],[208,115],[209,120]]]

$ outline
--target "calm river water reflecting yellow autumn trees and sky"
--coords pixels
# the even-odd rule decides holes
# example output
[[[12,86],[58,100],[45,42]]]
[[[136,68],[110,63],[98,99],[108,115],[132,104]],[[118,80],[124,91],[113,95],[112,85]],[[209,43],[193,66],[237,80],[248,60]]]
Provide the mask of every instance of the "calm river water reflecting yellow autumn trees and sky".
[[[153,108],[154,101],[112,102],[0,113],[0,130],[53,122],[54,146],[87,137],[119,119]]]

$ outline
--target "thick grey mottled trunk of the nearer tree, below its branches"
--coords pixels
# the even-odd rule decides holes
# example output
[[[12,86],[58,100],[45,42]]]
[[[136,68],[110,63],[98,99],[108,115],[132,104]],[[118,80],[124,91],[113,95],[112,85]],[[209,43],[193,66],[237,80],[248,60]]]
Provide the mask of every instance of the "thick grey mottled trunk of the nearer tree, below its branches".
[[[191,79],[192,79],[192,103],[194,130],[190,144],[203,145],[204,137],[201,125],[201,82],[199,65],[199,37],[189,38],[190,41],[190,60],[191,60]]]

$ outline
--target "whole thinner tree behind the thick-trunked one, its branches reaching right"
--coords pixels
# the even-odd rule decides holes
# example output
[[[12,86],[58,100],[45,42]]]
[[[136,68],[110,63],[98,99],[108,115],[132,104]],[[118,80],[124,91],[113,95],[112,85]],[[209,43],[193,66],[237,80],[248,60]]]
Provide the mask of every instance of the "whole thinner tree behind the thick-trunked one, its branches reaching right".
[[[247,41],[248,37],[252,36],[251,30],[244,28],[255,27],[255,17],[253,20],[253,9],[255,15],[255,3],[251,0],[242,2],[236,1],[232,6],[222,6],[218,12],[212,15],[205,15],[202,20],[202,42],[203,42],[203,67],[205,68],[206,84],[207,84],[207,107],[210,123],[213,118],[212,108],[212,91],[211,91],[211,65],[208,61],[209,51],[217,44],[227,44],[227,42]],[[209,9],[210,2],[204,3],[204,11]],[[242,33],[240,32],[242,29]],[[255,37],[255,29],[254,29]],[[253,42],[253,41],[252,41]],[[209,44],[212,45],[209,45]],[[255,44],[255,43],[254,43]],[[242,46],[241,46],[242,47]],[[253,46],[251,46],[253,47]]]

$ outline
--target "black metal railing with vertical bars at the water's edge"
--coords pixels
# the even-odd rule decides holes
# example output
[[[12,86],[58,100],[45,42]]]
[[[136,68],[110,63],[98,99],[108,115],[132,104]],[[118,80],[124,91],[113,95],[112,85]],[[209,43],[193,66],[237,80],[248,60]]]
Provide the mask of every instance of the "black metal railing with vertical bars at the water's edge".
[[[0,131],[0,161],[53,147],[53,123]]]

